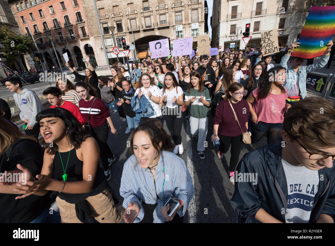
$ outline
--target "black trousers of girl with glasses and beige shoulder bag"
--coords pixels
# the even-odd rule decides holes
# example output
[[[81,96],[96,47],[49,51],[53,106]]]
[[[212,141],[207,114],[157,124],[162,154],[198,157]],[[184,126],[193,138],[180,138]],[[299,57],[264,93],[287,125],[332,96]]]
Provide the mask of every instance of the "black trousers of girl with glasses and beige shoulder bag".
[[[227,153],[230,148],[230,164],[229,172],[234,172],[240,160],[240,153],[243,146],[242,135],[236,137],[226,137],[220,134],[217,135],[220,139],[219,151]]]

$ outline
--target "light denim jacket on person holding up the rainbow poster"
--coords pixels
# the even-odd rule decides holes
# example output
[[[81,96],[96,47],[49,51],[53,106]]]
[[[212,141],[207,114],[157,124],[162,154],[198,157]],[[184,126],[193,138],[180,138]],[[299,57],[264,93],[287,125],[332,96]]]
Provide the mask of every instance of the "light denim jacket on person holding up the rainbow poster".
[[[294,71],[294,69],[292,68],[292,65],[289,68],[287,67],[287,62],[289,58],[290,56],[287,56],[287,55],[283,56],[279,64],[279,66],[282,66],[283,68],[286,69],[286,81],[285,81],[284,86],[286,87],[287,91],[289,91],[292,88],[292,85],[294,85],[294,83],[296,82],[297,76],[299,74],[298,84],[299,84],[300,94],[302,95],[303,98],[305,98],[305,96],[307,95],[307,92],[306,92],[307,74],[316,69],[323,68],[329,60],[329,55],[328,56],[323,55],[320,61],[318,61],[317,63],[313,63],[308,66],[300,66],[298,73]]]

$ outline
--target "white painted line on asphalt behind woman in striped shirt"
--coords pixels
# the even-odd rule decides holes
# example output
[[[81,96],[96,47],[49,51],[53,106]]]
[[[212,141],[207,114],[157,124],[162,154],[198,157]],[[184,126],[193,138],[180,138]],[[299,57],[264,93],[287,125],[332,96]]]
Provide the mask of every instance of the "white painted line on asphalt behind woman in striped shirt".
[[[186,143],[187,143],[187,169],[191,174],[192,184],[194,187],[194,171],[193,171],[193,161],[192,161],[192,142],[191,142],[191,128],[190,128],[190,121],[186,121]],[[189,223],[197,223],[196,218],[196,207],[195,207],[195,195],[193,196],[188,210],[188,222]]]

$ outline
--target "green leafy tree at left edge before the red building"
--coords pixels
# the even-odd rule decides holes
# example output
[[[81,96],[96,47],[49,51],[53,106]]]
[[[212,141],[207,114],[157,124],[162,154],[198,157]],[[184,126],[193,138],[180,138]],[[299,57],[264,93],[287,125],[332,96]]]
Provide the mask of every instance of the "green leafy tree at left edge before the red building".
[[[0,51],[5,53],[6,65],[8,66],[13,65],[16,58],[20,59],[21,55],[29,54],[29,50],[35,47],[30,36],[19,34],[7,26],[0,27],[0,40],[5,46]]]

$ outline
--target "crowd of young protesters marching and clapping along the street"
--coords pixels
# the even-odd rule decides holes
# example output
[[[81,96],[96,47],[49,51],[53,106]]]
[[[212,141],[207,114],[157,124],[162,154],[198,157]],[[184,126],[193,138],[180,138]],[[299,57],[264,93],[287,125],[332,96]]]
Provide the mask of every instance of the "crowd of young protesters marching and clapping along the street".
[[[18,77],[5,79],[24,121],[24,134],[10,121],[8,104],[0,100],[0,171],[26,176],[24,182],[0,177],[1,208],[7,212],[0,222],[182,223],[195,194],[185,161],[178,156],[186,143],[183,124],[189,124],[200,159],[205,159],[208,132],[218,158],[230,149],[227,175],[235,185],[231,202],[237,222],[333,223],[335,105],[305,98],[307,73],[327,64],[333,43],[327,44],[319,62],[308,66],[294,57],[299,44],[297,40],[281,47],[287,54],[279,66],[261,49],[250,49],[246,56],[242,51],[215,56],[196,52],[193,57],[148,56],[128,71],[117,62],[111,67],[112,78],[97,76],[86,56],[85,75],[66,63],[76,76],[75,85],[58,77],[55,86],[43,91],[51,104],[48,109],[35,92],[22,88]],[[124,163],[120,185],[124,201],[118,207],[107,182],[116,160],[107,144],[108,132],[117,132],[111,113],[120,116],[113,121],[126,119],[125,134],[132,132],[132,155]],[[241,150],[265,134],[268,145],[240,159]],[[23,151],[27,147],[29,151]],[[238,182],[236,172],[258,173],[258,185]],[[320,174],[327,182],[320,184]],[[292,189],[296,183],[305,186],[301,194]],[[290,202],[302,194],[309,206]],[[169,199],[178,204],[171,214]],[[52,216],[50,208],[56,211]]]

